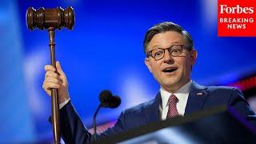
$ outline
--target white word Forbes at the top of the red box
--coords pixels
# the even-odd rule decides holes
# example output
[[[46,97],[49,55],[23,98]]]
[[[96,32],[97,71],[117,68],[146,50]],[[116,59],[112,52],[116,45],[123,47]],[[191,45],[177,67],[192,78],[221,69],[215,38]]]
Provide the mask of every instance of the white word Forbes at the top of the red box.
[[[220,5],[220,7],[220,14],[254,14],[254,7],[241,7],[239,5],[234,7]]]

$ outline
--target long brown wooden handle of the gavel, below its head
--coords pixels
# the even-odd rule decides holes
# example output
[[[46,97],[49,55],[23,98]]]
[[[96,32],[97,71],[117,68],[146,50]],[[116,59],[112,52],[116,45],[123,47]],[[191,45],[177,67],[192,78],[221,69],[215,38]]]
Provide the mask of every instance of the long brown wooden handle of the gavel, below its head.
[[[54,27],[50,27],[49,31],[49,38],[50,38],[50,62],[51,65],[54,66],[56,69],[56,61],[55,61],[55,43],[54,43]],[[59,130],[59,106],[58,106],[58,90],[52,89],[51,90],[51,122],[53,125],[53,134],[54,134],[54,144],[60,143],[60,130]]]

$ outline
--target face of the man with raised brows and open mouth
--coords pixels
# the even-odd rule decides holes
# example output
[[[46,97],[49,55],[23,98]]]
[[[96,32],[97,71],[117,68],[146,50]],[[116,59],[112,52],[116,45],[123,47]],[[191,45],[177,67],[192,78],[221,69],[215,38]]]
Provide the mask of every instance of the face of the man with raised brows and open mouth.
[[[185,45],[186,42],[182,34],[175,31],[155,34],[148,44],[147,51],[157,48],[166,49],[173,45]],[[190,81],[191,66],[194,65],[197,57],[196,50],[186,50],[183,47],[182,54],[176,57],[170,55],[165,50],[162,59],[156,61],[154,58],[145,58],[145,63],[154,78],[158,81],[162,89],[174,93],[181,86]]]

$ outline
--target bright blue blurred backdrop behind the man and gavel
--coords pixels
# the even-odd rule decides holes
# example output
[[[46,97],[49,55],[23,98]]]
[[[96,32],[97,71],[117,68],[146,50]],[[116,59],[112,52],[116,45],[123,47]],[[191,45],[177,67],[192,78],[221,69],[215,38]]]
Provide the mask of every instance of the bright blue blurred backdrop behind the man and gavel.
[[[158,22],[176,22],[194,38],[194,81],[226,85],[256,71],[256,38],[218,38],[216,0],[1,0],[0,142],[52,138],[50,97],[42,90],[43,67],[50,63],[48,33],[27,30],[29,6],[74,8],[74,30],[56,31],[56,58],[67,75],[71,101],[88,127],[101,90],[120,95],[122,104],[101,110],[98,124],[154,98],[159,86],[144,64],[142,41]]]

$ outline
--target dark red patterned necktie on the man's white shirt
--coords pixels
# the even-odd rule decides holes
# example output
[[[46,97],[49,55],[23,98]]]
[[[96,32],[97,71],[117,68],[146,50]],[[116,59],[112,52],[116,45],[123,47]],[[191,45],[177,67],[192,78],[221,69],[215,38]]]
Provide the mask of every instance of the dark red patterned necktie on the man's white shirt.
[[[169,109],[168,109],[166,119],[174,118],[175,116],[178,116],[178,110],[177,110],[178,98],[174,94],[171,94],[168,102],[169,102]]]

